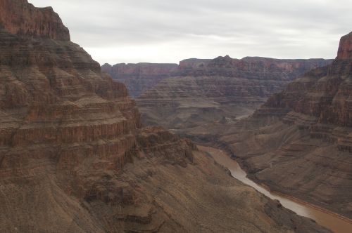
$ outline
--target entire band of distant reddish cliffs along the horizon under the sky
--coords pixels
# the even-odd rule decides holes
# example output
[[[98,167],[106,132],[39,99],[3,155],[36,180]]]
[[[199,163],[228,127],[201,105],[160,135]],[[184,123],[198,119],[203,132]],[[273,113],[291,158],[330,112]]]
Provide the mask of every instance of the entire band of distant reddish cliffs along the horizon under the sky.
[[[229,56],[215,59],[191,58],[176,64],[105,64],[101,67],[113,79],[121,81],[127,86],[132,97],[137,98],[149,89],[156,86],[161,80],[180,76],[225,76],[229,78],[261,79],[270,81],[290,81],[310,69],[328,65],[332,60],[280,60],[272,58],[243,58],[232,59]],[[282,85],[284,86],[284,85]],[[244,86],[244,89],[246,87]],[[272,88],[269,95],[277,92],[277,87]],[[278,91],[281,91],[279,87]],[[232,91],[233,92],[233,91]]]

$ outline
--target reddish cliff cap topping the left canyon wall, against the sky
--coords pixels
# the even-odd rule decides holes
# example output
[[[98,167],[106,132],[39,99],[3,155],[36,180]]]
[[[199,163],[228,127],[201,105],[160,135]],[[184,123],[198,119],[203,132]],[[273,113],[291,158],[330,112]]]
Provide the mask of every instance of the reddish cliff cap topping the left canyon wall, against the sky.
[[[1,0],[0,27],[25,37],[41,36],[70,41],[68,28],[53,8],[35,8],[27,0]]]

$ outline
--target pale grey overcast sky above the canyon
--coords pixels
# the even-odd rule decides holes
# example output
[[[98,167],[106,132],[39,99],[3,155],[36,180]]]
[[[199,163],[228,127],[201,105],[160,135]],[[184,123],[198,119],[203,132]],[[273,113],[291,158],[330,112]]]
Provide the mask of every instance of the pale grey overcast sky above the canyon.
[[[53,6],[94,60],[334,58],[351,0],[29,0]]]

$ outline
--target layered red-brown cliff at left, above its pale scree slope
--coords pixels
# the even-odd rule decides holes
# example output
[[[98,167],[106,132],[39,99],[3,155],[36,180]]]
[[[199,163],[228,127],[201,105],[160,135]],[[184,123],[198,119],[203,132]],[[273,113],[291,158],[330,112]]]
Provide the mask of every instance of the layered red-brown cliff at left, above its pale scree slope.
[[[102,175],[131,161],[138,109],[123,84],[69,41],[51,8],[1,1],[3,13],[9,18],[0,29],[1,178],[43,173],[55,164],[58,180],[82,184],[61,188],[84,197],[89,175],[73,170]]]

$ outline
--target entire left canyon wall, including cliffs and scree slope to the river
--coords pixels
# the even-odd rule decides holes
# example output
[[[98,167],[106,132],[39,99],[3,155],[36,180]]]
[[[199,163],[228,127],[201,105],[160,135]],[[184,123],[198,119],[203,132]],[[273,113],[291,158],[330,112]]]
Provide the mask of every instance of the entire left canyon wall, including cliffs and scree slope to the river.
[[[330,232],[142,127],[52,8],[0,13],[1,232]]]

